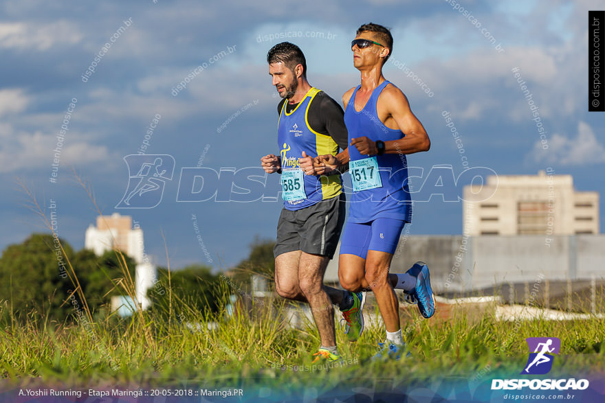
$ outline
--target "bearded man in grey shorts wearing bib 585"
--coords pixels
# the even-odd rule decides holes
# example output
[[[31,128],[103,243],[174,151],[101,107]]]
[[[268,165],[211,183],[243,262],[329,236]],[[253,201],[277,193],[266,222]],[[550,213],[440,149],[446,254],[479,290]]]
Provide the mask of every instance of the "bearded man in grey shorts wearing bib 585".
[[[338,102],[307,81],[307,62],[298,46],[278,43],[267,53],[267,63],[272,84],[283,98],[277,107],[277,143],[281,151],[279,156],[267,154],[261,158],[265,172],[281,174],[283,187],[284,207],[274,247],[275,287],[281,297],[309,303],[321,338],[321,347],[314,354],[316,361],[336,361],[340,354],[332,304],[339,306],[347,323],[347,338],[356,341],[364,328],[365,292],[323,284],[344,224],[340,177],[344,169],[315,176],[313,158],[336,154],[339,145],[347,148],[347,127]],[[349,159],[347,152],[337,157]]]

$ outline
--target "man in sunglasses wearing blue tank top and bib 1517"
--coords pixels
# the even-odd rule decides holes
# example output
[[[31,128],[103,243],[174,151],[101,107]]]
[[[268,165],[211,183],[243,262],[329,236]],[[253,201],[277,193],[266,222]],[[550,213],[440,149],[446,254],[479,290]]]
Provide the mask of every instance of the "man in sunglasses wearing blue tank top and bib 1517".
[[[435,310],[426,264],[417,262],[404,274],[388,273],[401,230],[412,218],[406,154],[428,151],[430,139],[406,95],[382,75],[393,50],[391,32],[382,25],[364,24],[351,50],[361,84],[342,97],[353,194],[340,244],[338,277],[346,290],[374,292],[386,327],[386,341],[379,343],[382,350],[375,358],[399,359],[405,344],[393,288],[415,299],[425,318]],[[319,174],[329,174],[337,163],[330,154],[314,159]]]

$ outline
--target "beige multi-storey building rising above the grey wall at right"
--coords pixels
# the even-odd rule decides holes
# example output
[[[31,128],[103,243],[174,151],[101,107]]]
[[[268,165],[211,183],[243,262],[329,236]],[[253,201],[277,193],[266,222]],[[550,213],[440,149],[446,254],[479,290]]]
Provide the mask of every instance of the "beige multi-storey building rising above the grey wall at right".
[[[487,176],[485,185],[465,186],[463,198],[470,236],[599,233],[599,194],[576,192],[571,175],[553,170]]]

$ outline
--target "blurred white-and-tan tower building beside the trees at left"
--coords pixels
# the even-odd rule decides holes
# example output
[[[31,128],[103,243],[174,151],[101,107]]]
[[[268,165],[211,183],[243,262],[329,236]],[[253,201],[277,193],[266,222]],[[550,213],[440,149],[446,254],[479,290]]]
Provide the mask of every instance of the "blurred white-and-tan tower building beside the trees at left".
[[[157,270],[145,253],[143,230],[137,222],[133,227],[131,216],[121,216],[118,213],[111,216],[98,216],[96,227],[90,224],[86,230],[84,247],[94,251],[98,256],[113,249],[120,249],[129,255],[136,263],[137,300],[143,309],[151,305],[146,293],[153,287]]]

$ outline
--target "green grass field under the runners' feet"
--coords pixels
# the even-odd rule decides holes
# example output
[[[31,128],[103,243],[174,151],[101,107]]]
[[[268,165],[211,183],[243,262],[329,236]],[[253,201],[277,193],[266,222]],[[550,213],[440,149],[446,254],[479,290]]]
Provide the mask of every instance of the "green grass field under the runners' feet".
[[[191,330],[177,317],[142,312],[130,319],[115,316],[90,323],[52,323],[32,312],[27,317],[10,316],[10,304],[2,303],[0,316],[0,373],[15,385],[137,384],[145,387],[203,384],[224,387],[263,384],[266,387],[318,389],[340,386],[372,386],[396,380],[426,384],[444,377],[471,382],[518,374],[527,360],[525,338],[554,336],[561,339],[561,352],[551,374],[605,372],[605,323],[585,321],[498,322],[485,314],[472,323],[463,314],[453,319],[421,319],[416,310],[403,319],[404,338],[413,354],[403,362],[372,363],[384,328],[366,327],[358,343],[349,343],[337,327],[344,365],[313,367],[311,354],[319,345],[312,323],[292,329],[281,311],[289,303],[256,304],[253,315],[236,309],[209,315],[192,312],[174,301],[171,312],[187,312]],[[166,313],[166,312],[164,312]],[[174,315],[176,316],[176,315]],[[184,316],[181,316],[184,319]],[[206,323],[216,322],[210,330]],[[500,375],[498,375],[500,374]]]

